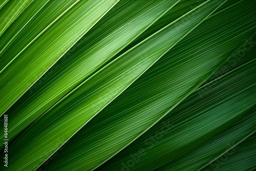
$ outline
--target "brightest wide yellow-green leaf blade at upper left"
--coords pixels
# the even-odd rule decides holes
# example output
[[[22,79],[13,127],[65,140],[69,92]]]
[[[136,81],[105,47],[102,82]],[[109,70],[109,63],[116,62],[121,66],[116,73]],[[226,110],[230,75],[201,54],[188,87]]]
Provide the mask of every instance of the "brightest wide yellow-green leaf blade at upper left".
[[[50,30],[30,42],[0,73],[0,114],[22,96],[118,0],[76,1],[49,25]]]

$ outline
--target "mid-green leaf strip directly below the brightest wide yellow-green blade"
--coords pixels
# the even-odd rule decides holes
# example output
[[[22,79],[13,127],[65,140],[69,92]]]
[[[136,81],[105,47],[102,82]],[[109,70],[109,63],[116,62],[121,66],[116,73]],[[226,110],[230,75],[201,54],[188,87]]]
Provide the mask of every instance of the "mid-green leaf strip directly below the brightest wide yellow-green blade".
[[[119,2],[121,4],[118,3],[111,9],[5,113],[9,117],[9,140],[77,87],[177,2]],[[4,131],[4,127],[0,127],[0,130]]]

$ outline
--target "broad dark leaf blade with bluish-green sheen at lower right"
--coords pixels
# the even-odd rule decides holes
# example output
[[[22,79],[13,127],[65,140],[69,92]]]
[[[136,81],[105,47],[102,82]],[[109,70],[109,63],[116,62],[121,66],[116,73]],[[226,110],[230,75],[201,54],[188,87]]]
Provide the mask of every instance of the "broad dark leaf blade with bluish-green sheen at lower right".
[[[256,60],[196,91],[99,170],[165,170],[167,164],[249,116],[256,100]],[[255,131],[248,124],[248,133]],[[162,166],[162,167],[161,167]]]

